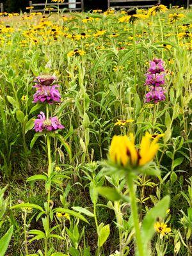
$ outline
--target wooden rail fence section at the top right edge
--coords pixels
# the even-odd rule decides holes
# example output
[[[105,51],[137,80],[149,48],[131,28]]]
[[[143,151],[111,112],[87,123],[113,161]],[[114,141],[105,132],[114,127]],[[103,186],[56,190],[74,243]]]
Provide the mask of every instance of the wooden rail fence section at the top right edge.
[[[108,0],[108,8],[150,8],[160,3],[161,0]]]

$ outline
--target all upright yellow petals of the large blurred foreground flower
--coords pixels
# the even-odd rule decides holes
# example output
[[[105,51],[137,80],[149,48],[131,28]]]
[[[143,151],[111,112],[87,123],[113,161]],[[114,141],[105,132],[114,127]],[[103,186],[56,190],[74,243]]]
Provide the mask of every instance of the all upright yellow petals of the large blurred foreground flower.
[[[141,140],[140,151],[138,151],[134,145],[133,134],[129,134],[129,137],[115,135],[109,148],[109,159],[123,166],[143,166],[152,161],[156,155],[159,149],[157,141],[158,137],[152,140],[152,135],[147,132]]]

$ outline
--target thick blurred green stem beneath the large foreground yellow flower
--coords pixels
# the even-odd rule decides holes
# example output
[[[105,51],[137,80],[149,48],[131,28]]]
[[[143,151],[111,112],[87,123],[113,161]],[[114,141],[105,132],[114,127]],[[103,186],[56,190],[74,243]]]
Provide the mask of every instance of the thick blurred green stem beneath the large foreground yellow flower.
[[[145,256],[143,252],[143,243],[141,239],[141,232],[140,232],[140,223],[139,223],[139,216],[138,216],[138,207],[136,204],[136,195],[134,192],[134,182],[132,173],[127,173],[127,184],[129,186],[129,196],[131,202],[131,213],[132,213],[132,220],[134,224],[135,230],[135,237],[136,237],[136,246],[138,250],[138,256]]]

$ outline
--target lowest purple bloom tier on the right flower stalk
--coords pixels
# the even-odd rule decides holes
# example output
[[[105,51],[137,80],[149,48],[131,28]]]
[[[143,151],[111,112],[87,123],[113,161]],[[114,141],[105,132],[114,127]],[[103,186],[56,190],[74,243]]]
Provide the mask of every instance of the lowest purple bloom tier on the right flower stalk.
[[[145,102],[153,101],[154,103],[157,103],[159,101],[165,100],[165,91],[162,87],[150,87],[150,92],[148,92],[145,97]]]

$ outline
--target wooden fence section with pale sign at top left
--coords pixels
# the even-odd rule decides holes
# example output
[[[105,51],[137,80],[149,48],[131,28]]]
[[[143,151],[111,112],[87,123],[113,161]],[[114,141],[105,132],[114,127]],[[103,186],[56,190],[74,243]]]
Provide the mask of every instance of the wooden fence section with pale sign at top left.
[[[64,3],[54,3],[47,1],[47,5],[45,3],[35,4],[33,1],[29,1],[29,6],[33,7],[31,12],[45,12],[46,8],[51,8],[51,6],[59,6],[59,8],[67,8],[68,11],[81,11],[84,12],[84,2],[83,0],[67,0]],[[58,9],[54,9],[52,11],[57,11]]]

